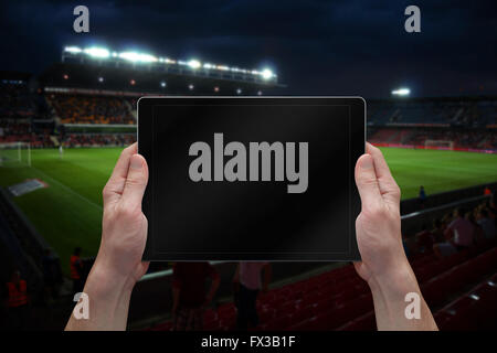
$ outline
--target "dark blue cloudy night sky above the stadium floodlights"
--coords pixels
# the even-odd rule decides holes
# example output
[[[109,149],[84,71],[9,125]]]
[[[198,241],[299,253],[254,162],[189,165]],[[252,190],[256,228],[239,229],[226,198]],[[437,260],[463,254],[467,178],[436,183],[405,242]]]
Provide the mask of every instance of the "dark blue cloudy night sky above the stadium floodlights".
[[[74,7],[89,33],[73,32]],[[421,33],[404,9],[421,9]],[[292,95],[497,94],[494,1],[2,1],[0,71],[40,73],[65,45],[269,67]]]

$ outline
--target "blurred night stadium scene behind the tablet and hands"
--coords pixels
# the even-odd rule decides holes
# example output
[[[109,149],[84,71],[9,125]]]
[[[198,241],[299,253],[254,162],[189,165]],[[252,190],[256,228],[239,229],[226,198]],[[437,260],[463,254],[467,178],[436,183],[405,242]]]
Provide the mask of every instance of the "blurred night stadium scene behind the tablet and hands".
[[[420,1],[421,32],[408,33],[409,4],[87,1],[89,32],[75,33],[76,4],[2,2],[0,328],[64,328],[98,249],[102,189],[136,141],[139,97],[359,95],[367,139],[401,188],[404,248],[438,327],[496,329],[496,11],[491,1]],[[251,314],[240,299],[247,274],[260,277]],[[178,324],[181,308],[195,309],[194,324]],[[350,264],[155,263],[128,325],[376,321]]]

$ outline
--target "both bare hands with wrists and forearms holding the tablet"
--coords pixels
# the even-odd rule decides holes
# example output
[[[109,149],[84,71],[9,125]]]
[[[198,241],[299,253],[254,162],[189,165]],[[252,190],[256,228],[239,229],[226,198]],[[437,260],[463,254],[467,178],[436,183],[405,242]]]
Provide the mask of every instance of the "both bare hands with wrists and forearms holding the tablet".
[[[137,145],[131,145],[104,188],[102,243],[84,288],[92,300],[91,318],[72,315],[66,330],[126,329],[133,288],[148,268],[141,261],[147,240],[141,200],[147,182],[147,163],[137,154]],[[380,150],[369,143],[356,164],[356,184],[362,203],[356,221],[362,261],[355,267],[371,289],[378,329],[437,330],[403,250],[399,186]],[[410,320],[404,313],[405,296],[413,292],[421,298],[422,320]]]

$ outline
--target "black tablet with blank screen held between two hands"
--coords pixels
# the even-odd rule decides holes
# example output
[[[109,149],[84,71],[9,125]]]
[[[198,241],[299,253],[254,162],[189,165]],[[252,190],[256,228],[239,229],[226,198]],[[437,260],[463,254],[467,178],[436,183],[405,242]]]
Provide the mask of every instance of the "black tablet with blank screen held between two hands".
[[[142,97],[144,260],[359,260],[360,97]]]

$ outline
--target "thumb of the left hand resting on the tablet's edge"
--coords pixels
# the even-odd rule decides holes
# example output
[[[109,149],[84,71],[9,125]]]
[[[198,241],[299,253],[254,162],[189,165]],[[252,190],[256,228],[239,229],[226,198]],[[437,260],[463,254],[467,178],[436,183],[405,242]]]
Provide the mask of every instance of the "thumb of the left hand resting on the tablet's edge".
[[[145,189],[148,182],[148,168],[145,158],[140,154],[133,154],[129,161],[128,175],[126,178],[123,202],[126,208],[141,210],[141,200],[144,199]]]

